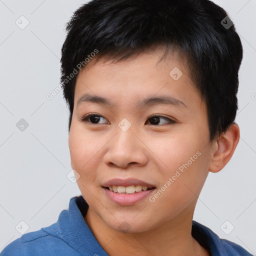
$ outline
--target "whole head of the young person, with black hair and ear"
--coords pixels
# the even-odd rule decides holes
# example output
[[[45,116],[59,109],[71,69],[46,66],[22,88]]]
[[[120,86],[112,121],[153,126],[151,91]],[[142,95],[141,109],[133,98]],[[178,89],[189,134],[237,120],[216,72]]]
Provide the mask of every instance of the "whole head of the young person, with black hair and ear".
[[[232,156],[242,46],[234,26],[221,24],[226,16],[208,0],[92,0],[67,23],[61,83],[71,165],[108,226],[125,220],[137,232],[191,216],[208,171]],[[102,187],[115,177],[154,192],[120,207]]]

